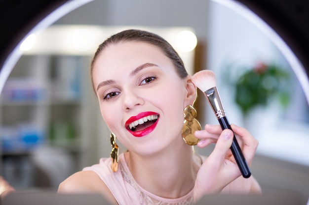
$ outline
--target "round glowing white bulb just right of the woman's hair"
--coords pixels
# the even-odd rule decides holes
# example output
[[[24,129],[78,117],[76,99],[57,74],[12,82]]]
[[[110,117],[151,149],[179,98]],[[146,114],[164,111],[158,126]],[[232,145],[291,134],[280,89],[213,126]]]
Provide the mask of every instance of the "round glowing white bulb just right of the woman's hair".
[[[190,30],[183,30],[176,36],[176,46],[180,51],[191,52],[196,47],[197,38]]]

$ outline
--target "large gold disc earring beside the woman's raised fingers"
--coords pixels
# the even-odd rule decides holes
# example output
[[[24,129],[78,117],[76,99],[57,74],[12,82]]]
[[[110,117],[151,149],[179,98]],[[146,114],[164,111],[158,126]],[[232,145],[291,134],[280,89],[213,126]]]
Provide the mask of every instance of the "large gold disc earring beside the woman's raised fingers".
[[[181,134],[183,136],[184,141],[190,145],[194,146],[199,142],[199,139],[197,139],[194,136],[194,132],[196,130],[201,130],[201,126],[196,117],[196,110],[193,108],[193,106],[188,105],[184,110],[184,126],[181,130]]]

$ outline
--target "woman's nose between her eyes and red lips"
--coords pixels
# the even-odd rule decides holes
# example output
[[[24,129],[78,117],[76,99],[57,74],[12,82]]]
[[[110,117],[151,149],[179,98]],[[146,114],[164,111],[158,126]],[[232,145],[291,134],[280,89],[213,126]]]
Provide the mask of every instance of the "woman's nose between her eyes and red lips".
[[[122,108],[124,111],[129,111],[135,106],[144,104],[144,99],[137,90],[124,89],[121,94],[123,98]]]

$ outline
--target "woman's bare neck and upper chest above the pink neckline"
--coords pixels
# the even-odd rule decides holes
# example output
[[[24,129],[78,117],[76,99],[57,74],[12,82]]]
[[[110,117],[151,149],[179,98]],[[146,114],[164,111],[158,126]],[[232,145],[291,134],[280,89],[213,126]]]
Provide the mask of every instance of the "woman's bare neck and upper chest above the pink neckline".
[[[179,198],[189,193],[201,165],[192,147],[185,143],[151,156],[126,152],[125,159],[137,183],[163,198]]]

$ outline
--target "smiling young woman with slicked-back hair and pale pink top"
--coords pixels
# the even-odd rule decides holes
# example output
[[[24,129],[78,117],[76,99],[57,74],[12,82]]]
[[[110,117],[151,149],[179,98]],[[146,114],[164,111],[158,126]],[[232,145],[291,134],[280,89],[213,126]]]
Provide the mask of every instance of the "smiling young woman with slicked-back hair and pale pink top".
[[[188,122],[194,121],[196,86],[164,39],[134,29],[111,36],[95,53],[91,76],[113,133],[112,157],[70,176],[59,193],[102,193],[119,205],[180,205],[211,193],[261,192],[253,176],[240,174],[230,151],[232,131],[208,124],[199,130]],[[244,128],[232,129],[250,166],[258,142]],[[116,139],[128,150],[119,156]],[[193,153],[197,141],[199,147],[216,143],[210,156]]]

